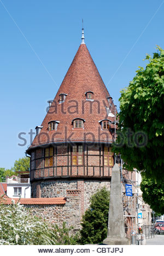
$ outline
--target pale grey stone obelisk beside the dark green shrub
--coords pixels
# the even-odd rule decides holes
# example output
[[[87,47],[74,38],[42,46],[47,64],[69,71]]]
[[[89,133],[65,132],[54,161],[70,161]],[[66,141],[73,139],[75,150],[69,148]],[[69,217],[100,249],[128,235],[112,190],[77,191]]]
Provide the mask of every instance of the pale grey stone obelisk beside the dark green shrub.
[[[118,164],[115,164],[112,170],[108,235],[103,243],[105,245],[130,245],[130,240],[125,235],[121,177]]]

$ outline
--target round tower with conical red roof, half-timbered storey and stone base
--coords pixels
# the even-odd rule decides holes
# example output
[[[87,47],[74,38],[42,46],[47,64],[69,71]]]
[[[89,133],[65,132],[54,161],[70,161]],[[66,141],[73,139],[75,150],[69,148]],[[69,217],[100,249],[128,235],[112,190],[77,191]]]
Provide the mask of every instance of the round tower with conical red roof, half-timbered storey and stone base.
[[[110,188],[114,165],[116,106],[84,42],[57,91],[31,156],[32,197],[81,196],[81,213],[97,188]]]

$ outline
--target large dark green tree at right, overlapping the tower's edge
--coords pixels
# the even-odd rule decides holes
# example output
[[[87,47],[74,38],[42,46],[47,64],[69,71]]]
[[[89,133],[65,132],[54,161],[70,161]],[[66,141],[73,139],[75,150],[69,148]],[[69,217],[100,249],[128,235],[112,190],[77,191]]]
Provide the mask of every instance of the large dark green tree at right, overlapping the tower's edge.
[[[139,67],[136,76],[121,91],[118,144],[114,147],[125,168],[144,171],[147,178],[164,178],[164,51],[158,47],[149,63]],[[128,131],[130,129],[130,131]],[[142,135],[136,135],[142,131]],[[131,132],[131,134],[130,134]]]

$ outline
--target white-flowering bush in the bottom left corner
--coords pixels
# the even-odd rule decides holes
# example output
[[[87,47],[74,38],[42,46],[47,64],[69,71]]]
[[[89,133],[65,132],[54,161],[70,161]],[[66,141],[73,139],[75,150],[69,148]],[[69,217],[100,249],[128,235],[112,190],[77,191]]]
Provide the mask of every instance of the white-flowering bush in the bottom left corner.
[[[75,245],[78,235],[71,235],[72,226],[62,228],[33,216],[20,203],[4,205],[0,199],[0,245]]]

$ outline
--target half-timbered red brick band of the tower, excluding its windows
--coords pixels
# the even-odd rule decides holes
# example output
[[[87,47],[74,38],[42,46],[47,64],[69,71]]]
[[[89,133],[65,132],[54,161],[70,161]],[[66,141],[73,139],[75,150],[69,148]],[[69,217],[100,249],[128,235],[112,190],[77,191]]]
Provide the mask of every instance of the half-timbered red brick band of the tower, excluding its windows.
[[[35,169],[31,170],[33,179],[56,176],[111,176],[112,167],[104,166],[103,146],[83,145],[83,165],[72,165],[71,146],[54,148],[53,166],[45,167],[44,148],[35,151]]]

